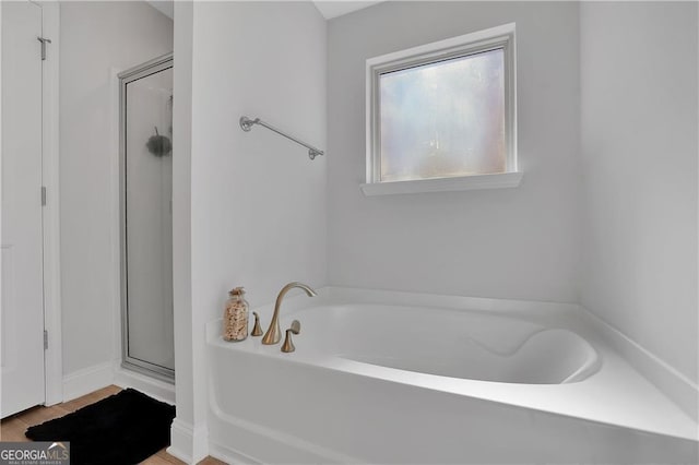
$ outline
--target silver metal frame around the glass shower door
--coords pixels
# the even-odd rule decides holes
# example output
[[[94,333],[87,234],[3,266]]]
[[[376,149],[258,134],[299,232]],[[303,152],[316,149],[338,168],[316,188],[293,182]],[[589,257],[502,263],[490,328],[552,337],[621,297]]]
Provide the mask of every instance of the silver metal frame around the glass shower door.
[[[121,367],[169,383],[175,370],[129,356],[129,300],[127,270],[127,85],[174,67],[173,53],[166,53],[118,74],[119,78],[119,233],[121,282]]]

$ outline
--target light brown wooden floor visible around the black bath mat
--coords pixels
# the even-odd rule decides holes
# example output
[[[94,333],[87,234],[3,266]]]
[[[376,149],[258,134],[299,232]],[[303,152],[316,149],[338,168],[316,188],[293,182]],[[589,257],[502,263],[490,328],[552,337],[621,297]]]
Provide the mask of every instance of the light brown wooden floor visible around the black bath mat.
[[[54,418],[62,417],[66,414],[75,412],[85,405],[94,404],[95,402],[102,401],[103,398],[116,394],[119,391],[121,391],[121,388],[111,385],[63,404],[54,405],[51,407],[34,407],[8,417],[0,421],[0,441],[29,441],[24,436],[24,431],[26,431],[28,427],[52,420]],[[142,464],[186,465],[185,462],[165,452],[165,449],[146,458]],[[199,462],[199,465],[225,465],[225,463],[213,457],[206,457]]]

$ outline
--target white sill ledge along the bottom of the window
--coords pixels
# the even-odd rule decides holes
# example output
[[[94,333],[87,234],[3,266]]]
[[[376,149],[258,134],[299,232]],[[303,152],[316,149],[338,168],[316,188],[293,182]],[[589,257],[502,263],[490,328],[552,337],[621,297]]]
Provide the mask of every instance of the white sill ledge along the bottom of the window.
[[[419,179],[414,181],[374,182],[362,184],[366,196],[411,194],[423,192],[453,192],[476,189],[516,188],[522,181],[521,171],[474,175],[462,178]]]

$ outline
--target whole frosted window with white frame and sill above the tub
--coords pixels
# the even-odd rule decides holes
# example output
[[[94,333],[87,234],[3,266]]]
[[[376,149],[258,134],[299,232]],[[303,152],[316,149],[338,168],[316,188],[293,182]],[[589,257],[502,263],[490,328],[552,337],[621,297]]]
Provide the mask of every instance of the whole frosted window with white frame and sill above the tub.
[[[514,24],[367,60],[365,194],[514,187]]]

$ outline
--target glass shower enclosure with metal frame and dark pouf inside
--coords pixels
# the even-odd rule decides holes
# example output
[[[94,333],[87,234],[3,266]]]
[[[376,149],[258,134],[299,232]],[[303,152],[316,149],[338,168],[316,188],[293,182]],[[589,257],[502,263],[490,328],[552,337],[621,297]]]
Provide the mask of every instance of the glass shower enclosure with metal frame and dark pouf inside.
[[[174,380],[173,55],[119,86],[122,365]]]

